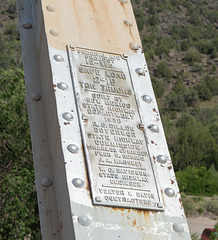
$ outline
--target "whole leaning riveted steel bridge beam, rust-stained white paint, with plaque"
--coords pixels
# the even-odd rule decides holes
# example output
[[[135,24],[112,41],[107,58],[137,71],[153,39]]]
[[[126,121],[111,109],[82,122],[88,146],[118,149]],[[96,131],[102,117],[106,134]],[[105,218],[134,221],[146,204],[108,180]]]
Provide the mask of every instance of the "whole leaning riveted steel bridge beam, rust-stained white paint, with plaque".
[[[18,10],[42,238],[190,240],[130,1]]]

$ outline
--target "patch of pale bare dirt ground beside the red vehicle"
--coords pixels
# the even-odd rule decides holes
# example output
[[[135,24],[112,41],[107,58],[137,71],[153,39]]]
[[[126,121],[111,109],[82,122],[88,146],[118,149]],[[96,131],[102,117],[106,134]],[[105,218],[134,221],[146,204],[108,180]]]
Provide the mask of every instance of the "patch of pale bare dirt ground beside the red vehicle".
[[[205,228],[213,228],[217,221],[209,218],[187,218],[191,233],[197,233],[199,237]]]

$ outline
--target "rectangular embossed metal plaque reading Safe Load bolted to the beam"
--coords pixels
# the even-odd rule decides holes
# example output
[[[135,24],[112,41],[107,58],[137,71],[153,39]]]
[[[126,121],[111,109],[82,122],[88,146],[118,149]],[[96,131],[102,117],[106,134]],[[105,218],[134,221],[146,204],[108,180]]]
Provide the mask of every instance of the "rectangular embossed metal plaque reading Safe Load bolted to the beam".
[[[163,210],[127,57],[69,48],[93,204]]]

